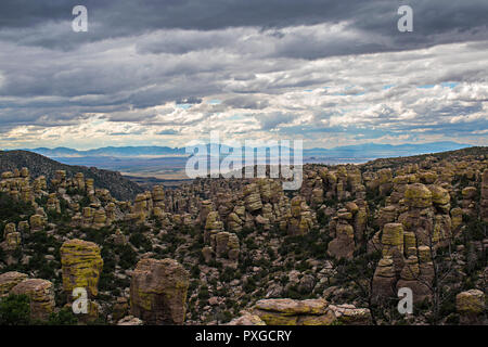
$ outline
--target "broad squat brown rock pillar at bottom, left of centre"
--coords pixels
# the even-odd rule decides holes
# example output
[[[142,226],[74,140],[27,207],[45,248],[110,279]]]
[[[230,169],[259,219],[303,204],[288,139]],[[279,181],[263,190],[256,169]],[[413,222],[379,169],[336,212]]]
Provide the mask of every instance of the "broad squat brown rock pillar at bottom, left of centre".
[[[146,324],[183,324],[189,273],[172,259],[142,259],[130,283],[131,314]]]

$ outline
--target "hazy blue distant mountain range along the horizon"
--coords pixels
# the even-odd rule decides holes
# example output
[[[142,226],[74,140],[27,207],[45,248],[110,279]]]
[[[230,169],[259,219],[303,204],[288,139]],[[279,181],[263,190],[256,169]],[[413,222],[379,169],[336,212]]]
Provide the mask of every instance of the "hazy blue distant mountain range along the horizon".
[[[223,145],[222,145],[223,146]],[[337,146],[333,149],[306,149],[303,154],[305,158],[331,158],[331,159],[352,159],[352,158],[382,158],[382,157],[397,157],[409,156],[426,153],[436,153],[445,151],[455,151],[464,147],[470,147],[471,144],[458,142],[431,142],[431,143],[408,143],[408,144],[381,144],[381,143],[365,143],[356,145]],[[207,144],[207,149],[209,145]],[[33,150],[25,150],[38,153],[52,158],[82,158],[82,157],[170,157],[170,156],[187,156],[184,147],[168,147],[168,146],[107,146],[88,151],[77,151],[68,147],[38,147]],[[293,153],[293,150],[292,150]],[[76,159],[72,159],[74,162]]]

